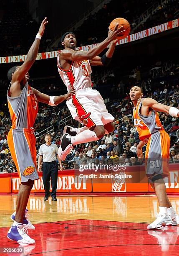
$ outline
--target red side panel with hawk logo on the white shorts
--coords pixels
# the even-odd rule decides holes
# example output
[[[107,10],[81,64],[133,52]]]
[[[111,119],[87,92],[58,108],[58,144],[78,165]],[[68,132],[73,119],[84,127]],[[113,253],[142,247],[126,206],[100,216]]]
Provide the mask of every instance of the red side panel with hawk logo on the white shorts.
[[[85,125],[88,128],[91,128],[91,127],[95,126],[95,123],[90,118],[91,113],[86,112],[86,110],[83,108],[81,103],[77,100],[76,95],[73,95],[72,103],[75,106],[76,113],[77,113],[79,119],[82,121],[83,125]]]

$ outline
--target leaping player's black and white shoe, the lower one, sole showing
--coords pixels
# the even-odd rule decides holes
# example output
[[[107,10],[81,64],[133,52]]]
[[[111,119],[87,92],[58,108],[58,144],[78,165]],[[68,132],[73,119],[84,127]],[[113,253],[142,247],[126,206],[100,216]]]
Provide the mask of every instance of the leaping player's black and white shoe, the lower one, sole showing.
[[[67,154],[73,149],[74,147],[71,144],[71,135],[65,133],[61,139],[61,146],[58,148],[58,156],[61,161],[66,159]]]

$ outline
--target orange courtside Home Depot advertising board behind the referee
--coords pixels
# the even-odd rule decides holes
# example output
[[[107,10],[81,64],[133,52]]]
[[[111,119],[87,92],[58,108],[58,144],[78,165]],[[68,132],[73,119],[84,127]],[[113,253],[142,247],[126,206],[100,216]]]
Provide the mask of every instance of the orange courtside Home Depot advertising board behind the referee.
[[[165,178],[166,191],[179,193],[179,164],[169,165],[169,177]],[[0,193],[17,193],[20,179],[17,173],[0,174]],[[51,189],[51,184],[50,184]],[[144,166],[127,166],[125,170],[58,171],[57,192],[153,192],[145,175]],[[44,192],[42,173],[34,181],[32,192]]]

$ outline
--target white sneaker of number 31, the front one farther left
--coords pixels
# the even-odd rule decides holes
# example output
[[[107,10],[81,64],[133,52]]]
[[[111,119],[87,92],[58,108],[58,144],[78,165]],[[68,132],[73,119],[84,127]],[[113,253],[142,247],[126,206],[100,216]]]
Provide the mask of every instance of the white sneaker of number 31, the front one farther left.
[[[159,213],[156,215],[156,220],[147,226],[147,229],[160,228],[161,226],[172,225],[173,221],[170,216],[165,213]]]

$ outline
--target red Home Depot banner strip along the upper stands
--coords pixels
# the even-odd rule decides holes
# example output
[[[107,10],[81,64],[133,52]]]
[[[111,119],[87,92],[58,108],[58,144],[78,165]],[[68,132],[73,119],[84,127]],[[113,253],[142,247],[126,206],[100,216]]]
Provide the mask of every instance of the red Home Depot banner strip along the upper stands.
[[[131,34],[131,35],[127,36],[125,39],[119,40],[116,45],[121,45],[121,44],[134,42],[134,41],[137,41],[139,39],[146,38],[148,36],[153,36],[153,35],[156,35],[158,33],[168,31],[168,30],[173,29],[173,28],[177,28],[178,26],[179,26],[179,19],[171,20],[169,22],[160,24],[160,25],[155,26],[153,28],[147,28],[143,31]],[[83,50],[83,51],[89,51],[96,45],[97,44],[90,44],[90,45],[87,45],[87,46],[78,47],[77,49],[78,50]],[[59,52],[60,51],[49,51],[49,52],[39,53],[36,60],[56,58]],[[26,57],[27,57],[27,55],[0,57],[0,64],[25,61]]]

